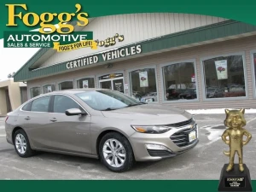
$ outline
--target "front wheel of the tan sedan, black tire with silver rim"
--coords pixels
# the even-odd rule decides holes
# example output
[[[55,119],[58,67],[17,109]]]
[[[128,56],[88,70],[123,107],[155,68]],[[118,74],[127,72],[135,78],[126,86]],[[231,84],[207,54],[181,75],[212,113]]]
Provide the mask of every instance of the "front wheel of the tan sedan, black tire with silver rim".
[[[111,143],[113,143],[113,147],[118,148],[113,150],[109,148],[111,147]],[[104,151],[108,151],[108,153],[104,153],[103,149]],[[112,172],[126,172],[130,170],[135,163],[131,144],[125,137],[117,132],[109,132],[102,137],[99,144],[99,154],[102,164],[107,166]],[[122,162],[121,160],[124,161]]]

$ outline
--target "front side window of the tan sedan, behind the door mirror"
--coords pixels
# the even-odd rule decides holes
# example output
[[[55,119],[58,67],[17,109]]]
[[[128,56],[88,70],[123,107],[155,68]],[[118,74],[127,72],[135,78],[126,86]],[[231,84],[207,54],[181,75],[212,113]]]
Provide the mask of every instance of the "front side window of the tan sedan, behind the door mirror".
[[[71,108],[79,108],[80,110],[84,111],[83,108],[79,106],[79,104],[73,99],[71,99],[68,96],[55,96],[54,100],[54,108],[53,112],[54,113],[65,113],[67,109]]]

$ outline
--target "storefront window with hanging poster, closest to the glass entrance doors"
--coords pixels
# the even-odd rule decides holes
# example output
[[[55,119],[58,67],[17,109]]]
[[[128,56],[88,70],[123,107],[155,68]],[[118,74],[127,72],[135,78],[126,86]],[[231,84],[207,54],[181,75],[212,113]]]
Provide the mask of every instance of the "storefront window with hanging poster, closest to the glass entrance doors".
[[[135,70],[130,79],[132,97],[142,102],[158,102],[154,68]]]

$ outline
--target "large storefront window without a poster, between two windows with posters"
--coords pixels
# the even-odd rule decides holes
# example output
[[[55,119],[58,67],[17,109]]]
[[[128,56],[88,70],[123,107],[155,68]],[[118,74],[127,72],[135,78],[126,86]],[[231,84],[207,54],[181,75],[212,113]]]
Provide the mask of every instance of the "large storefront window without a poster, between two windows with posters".
[[[193,62],[171,64],[163,67],[162,70],[166,101],[197,98]]]

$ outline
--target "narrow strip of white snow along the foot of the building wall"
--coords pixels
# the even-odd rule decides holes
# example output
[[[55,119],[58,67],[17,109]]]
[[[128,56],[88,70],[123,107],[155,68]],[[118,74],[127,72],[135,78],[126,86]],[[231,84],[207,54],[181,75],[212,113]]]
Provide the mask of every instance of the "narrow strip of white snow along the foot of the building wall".
[[[232,110],[232,108],[227,108]],[[197,110],[186,110],[191,114],[223,114],[225,108],[213,108],[213,109],[197,109]],[[245,109],[245,113],[256,113],[256,108]]]

